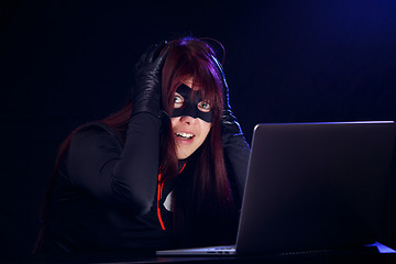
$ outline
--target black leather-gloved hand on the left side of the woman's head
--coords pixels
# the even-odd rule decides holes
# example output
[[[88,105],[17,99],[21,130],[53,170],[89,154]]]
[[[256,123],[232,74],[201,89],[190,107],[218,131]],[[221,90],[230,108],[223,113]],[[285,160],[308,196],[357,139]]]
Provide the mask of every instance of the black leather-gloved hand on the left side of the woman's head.
[[[132,116],[147,112],[157,118],[162,117],[160,109],[161,72],[169,50],[169,45],[166,44],[165,41],[160,45],[151,46],[134,66],[134,79],[131,90]]]

